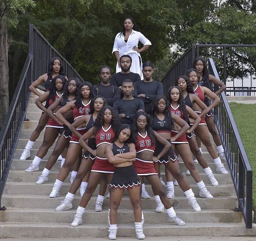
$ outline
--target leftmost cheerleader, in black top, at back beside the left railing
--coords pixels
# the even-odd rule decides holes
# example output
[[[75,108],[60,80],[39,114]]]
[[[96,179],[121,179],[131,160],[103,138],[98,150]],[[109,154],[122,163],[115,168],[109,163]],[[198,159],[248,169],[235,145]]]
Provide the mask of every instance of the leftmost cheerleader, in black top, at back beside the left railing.
[[[42,94],[38,92],[38,90],[36,89],[37,86],[44,83],[46,91],[49,90],[50,87],[52,86],[53,78],[55,78],[58,75],[65,75],[65,73],[63,72],[63,65],[60,58],[53,57],[48,64],[48,72],[43,75],[40,75],[38,79],[29,86],[29,90],[35,95],[40,97]],[[47,107],[48,106],[46,106],[46,109]],[[29,141],[26,144],[21,154],[20,160],[24,161],[30,157],[30,150],[32,149],[36,139],[39,137],[41,131],[45,128],[48,120],[49,120],[48,115],[46,114],[46,112],[43,111],[38,121],[38,125],[36,129],[33,131],[32,135],[30,136]]]

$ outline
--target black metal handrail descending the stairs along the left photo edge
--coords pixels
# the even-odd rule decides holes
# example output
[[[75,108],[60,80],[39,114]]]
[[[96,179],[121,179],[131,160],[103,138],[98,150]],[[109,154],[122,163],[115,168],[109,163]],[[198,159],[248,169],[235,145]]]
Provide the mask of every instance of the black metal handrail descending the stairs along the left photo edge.
[[[3,188],[5,187],[11,160],[13,159],[18,136],[25,118],[26,107],[31,93],[28,91],[32,77],[32,54],[28,54],[20,79],[18,81],[14,97],[0,132],[0,207]]]

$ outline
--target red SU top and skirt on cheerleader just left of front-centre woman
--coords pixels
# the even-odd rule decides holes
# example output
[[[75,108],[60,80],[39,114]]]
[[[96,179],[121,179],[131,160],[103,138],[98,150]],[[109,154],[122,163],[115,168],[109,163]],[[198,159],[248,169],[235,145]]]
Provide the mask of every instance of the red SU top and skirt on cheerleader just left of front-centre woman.
[[[115,131],[111,127],[111,125],[107,130],[105,130],[102,126],[101,129],[95,135],[96,147],[98,147],[101,144],[111,144],[113,142],[114,137]],[[110,163],[107,158],[101,158],[99,156],[96,156],[91,171],[114,173],[114,170],[114,165]]]

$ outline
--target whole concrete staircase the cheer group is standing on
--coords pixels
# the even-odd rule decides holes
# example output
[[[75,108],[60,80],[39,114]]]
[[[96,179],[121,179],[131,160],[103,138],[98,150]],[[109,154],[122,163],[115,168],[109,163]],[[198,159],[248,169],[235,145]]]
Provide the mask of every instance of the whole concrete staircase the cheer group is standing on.
[[[83,216],[83,224],[78,227],[71,227],[73,215],[80,202],[79,192],[73,201],[73,209],[62,212],[55,212],[54,209],[64,199],[64,195],[70,187],[69,177],[61,188],[61,195],[58,198],[48,197],[52,190],[60,169],[60,162],[52,168],[49,180],[46,184],[36,185],[38,176],[45,167],[47,158],[51,154],[53,147],[44,160],[41,161],[39,172],[25,172],[31,160],[34,158],[38,148],[42,143],[44,131],[33,146],[29,160],[20,161],[20,155],[29,139],[32,131],[38,123],[40,111],[34,104],[36,96],[32,96],[27,110],[20,138],[18,140],[14,159],[8,175],[7,183],[2,196],[2,205],[7,207],[6,211],[0,212],[0,233],[1,238],[30,237],[30,238],[75,238],[107,237],[107,215],[109,200],[104,200],[103,211],[95,212],[94,204],[98,188],[92,199],[88,203],[86,213]],[[55,145],[55,144],[54,144]],[[203,154],[209,160],[210,167],[215,171],[214,163],[209,154],[203,147]],[[182,161],[180,166],[185,174],[186,168]],[[166,211],[163,213],[155,212],[155,201],[151,187],[146,184],[146,190],[152,196],[149,200],[142,200],[142,209],[145,216],[144,233],[146,236],[239,236],[254,235],[256,226],[252,230],[247,230],[243,222],[242,214],[234,212],[232,209],[237,207],[235,190],[230,175],[216,174],[219,182],[218,187],[210,185],[208,178],[204,175],[203,169],[196,164],[202,179],[207,185],[208,190],[214,199],[199,198],[199,190],[191,176],[186,176],[191,184],[192,190],[197,196],[197,201],[201,206],[201,212],[194,212],[188,205],[184,193],[179,187],[175,187],[175,198],[171,200],[174,209],[185,222],[185,226],[177,226],[168,222]],[[225,164],[226,166],[226,164]],[[162,167],[162,176],[164,169]],[[164,178],[165,180],[165,178]],[[164,187],[166,190],[166,187]],[[135,237],[134,217],[131,204],[127,193],[123,197],[118,211],[118,237]]]

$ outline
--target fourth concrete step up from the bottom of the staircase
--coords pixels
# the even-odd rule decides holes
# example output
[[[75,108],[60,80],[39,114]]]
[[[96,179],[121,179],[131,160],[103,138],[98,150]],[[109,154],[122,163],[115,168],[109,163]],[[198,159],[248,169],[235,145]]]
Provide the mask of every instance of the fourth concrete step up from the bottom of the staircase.
[[[41,185],[37,185],[34,182],[32,183],[23,183],[23,182],[7,182],[5,185],[4,194],[12,194],[12,195],[21,195],[24,193],[24,186],[26,187],[26,195],[49,195],[52,191],[53,187],[52,183],[44,183]],[[67,182],[65,182],[60,190],[61,195],[65,195],[68,193],[69,189],[71,187],[71,184],[69,182],[69,179],[67,178]],[[208,191],[214,196],[235,196],[235,191],[233,190],[232,184],[225,184],[220,186],[207,186]],[[165,192],[167,192],[167,187],[163,187]],[[199,196],[199,188],[192,184],[191,188],[196,196]],[[149,184],[146,184],[146,190],[149,193],[150,196],[154,196],[152,188]],[[108,192],[108,191],[107,191]],[[175,186],[174,187],[175,196],[184,196],[184,192],[181,190],[180,187]],[[98,195],[99,193],[99,185],[96,188],[94,195]],[[79,196],[79,190],[77,191],[77,195]],[[128,193],[125,191],[124,196],[128,196]]]

